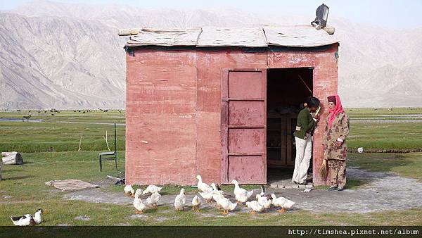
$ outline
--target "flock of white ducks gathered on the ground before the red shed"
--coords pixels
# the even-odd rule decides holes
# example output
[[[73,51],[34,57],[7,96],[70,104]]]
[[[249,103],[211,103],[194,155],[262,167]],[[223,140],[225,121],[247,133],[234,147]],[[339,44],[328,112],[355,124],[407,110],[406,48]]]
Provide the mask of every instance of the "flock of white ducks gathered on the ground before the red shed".
[[[285,212],[287,209],[291,208],[295,205],[294,201],[284,198],[283,196],[276,197],[275,194],[271,194],[268,196],[264,194],[264,188],[261,187],[261,193],[255,196],[256,200],[248,201],[249,198],[253,194],[253,190],[247,191],[239,186],[236,180],[232,180],[231,183],[234,184],[234,195],[236,198],[236,202],[233,203],[230,199],[224,197],[224,192],[217,187],[214,183],[208,185],[202,181],[202,177],[197,175],[196,178],[198,179],[198,194],[202,196],[203,199],[206,199],[207,202],[211,202],[214,200],[216,202],[217,209],[223,209],[222,214],[228,214],[229,211],[234,211],[238,204],[245,203],[248,208],[250,208],[251,213],[257,213],[266,211],[274,205],[276,207],[280,207],[280,213]],[[134,197],[134,208],[136,209],[136,214],[142,214],[148,207],[157,207],[158,201],[160,201],[161,195],[160,190],[162,187],[158,187],[155,185],[149,185],[145,190],[136,189],[136,192],[132,188],[131,185],[126,185],[124,187],[124,194],[126,196],[133,196]],[[151,194],[146,199],[144,203],[141,199],[142,195]],[[199,211],[200,204],[202,200],[198,195],[193,196],[192,199],[192,211],[196,210]],[[186,205],[186,194],[185,189],[182,188],[180,193],[174,198],[174,208],[177,211],[184,211],[184,207]]]

